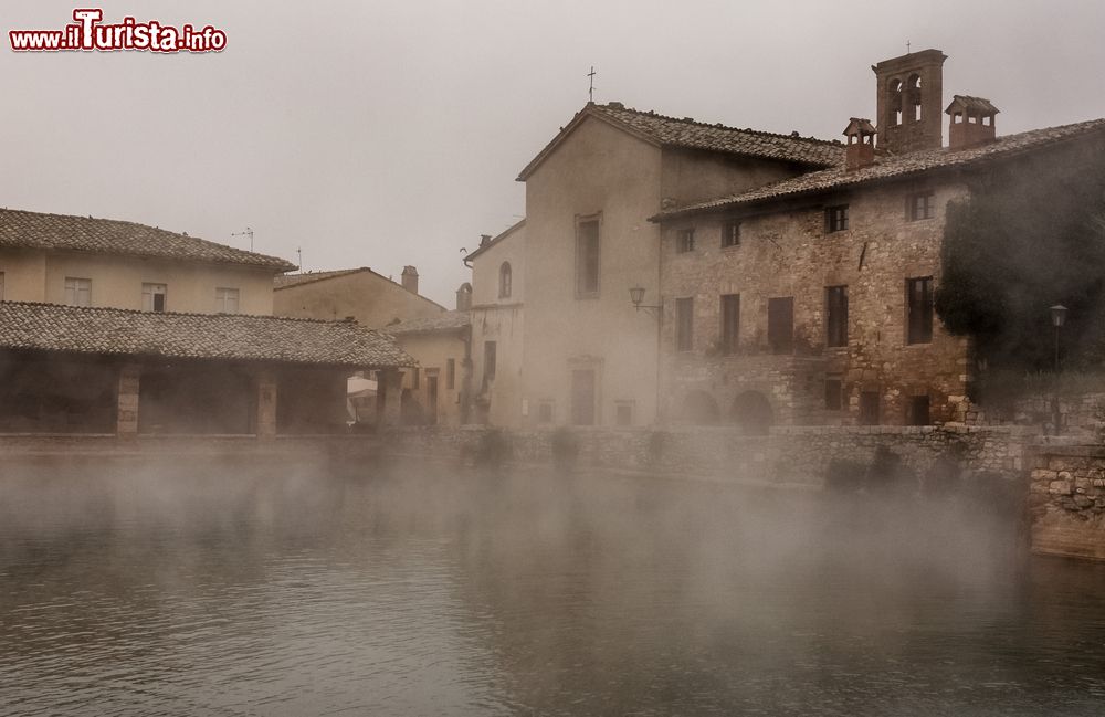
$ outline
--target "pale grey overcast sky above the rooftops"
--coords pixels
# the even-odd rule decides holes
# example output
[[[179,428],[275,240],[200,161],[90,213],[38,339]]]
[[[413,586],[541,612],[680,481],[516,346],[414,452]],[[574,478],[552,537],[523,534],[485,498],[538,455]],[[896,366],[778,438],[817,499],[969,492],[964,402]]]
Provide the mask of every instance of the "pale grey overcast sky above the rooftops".
[[[74,0],[75,2],[75,0]],[[587,102],[836,138],[870,65],[937,48],[945,102],[998,133],[1105,117],[1105,1],[0,0],[0,205],[126,219],[305,270],[418,266],[452,306],[461,247],[525,212],[518,171]],[[74,7],[212,24],[204,55],[28,53]]]

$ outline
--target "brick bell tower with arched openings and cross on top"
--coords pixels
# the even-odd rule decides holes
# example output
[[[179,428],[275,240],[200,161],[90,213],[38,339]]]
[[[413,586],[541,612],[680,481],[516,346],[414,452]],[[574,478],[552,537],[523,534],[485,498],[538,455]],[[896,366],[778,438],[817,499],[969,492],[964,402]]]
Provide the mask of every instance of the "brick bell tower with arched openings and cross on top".
[[[939,50],[911,52],[871,68],[878,83],[878,149],[904,155],[944,141],[944,61]]]

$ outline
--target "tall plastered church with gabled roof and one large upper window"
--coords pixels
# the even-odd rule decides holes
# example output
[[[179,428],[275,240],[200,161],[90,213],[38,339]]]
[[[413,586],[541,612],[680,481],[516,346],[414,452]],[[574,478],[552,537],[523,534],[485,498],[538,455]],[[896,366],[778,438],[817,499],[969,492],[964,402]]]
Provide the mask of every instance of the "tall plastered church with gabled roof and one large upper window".
[[[661,228],[648,218],[669,205],[832,167],[842,156],[839,143],[797,134],[676,119],[619,103],[585,106],[518,177],[526,183],[525,235],[517,250],[526,330],[514,320],[520,307],[506,309],[498,297],[486,326],[508,331],[512,341],[520,333],[520,351],[514,346],[499,352],[499,339],[490,335],[473,347],[483,373],[495,367],[486,393],[491,420],[507,426],[653,423],[657,326],[634,310],[629,291],[642,287],[652,297],[660,291]],[[506,252],[511,241],[501,244],[499,253]],[[492,259],[485,263],[494,270]],[[513,271],[514,282],[519,276]],[[481,295],[498,285],[491,273],[474,278],[473,288]],[[478,310],[485,330],[483,318],[491,313]],[[501,382],[506,377],[517,377],[517,391]],[[478,372],[475,378],[482,381]]]

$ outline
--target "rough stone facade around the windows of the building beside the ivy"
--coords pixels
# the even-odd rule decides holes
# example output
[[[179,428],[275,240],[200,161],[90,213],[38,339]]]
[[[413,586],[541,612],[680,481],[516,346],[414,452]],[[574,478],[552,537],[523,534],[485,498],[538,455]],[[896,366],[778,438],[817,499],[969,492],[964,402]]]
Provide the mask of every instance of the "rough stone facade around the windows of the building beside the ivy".
[[[909,221],[907,199],[935,192],[932,219]],[[699,215],[663,226],[661,338],[663,415],[678,421],[691,391],[716,397],[723,415],[743,378],[757,373],[768,346],[768,299],[793,297],[794,355],[817,357],[808,379],[790,378],[771,401],[778,424],[856,424],[860,394],[880,396],[880,423],[909,422],[912,397],[927,396],[934,422],[962,421],[966,404],[967,346],[945,333],[934,317],[933,340],[907,344],[906,280],[933,276],[939,284],[939,247],[945,210],[966,188],[957,183],[895,183],[856,189],[820,203],[750,217]],[[824,207],[849,205],[849,229],[827,232]],[[723,247],[722,226],[740,221],[740,243]],[[680,230],[694,230],[694,249],[678,252]],[[828,347],[825,287],[848,286],[848,346]],[[720,296],[740,295],[739,346],[722,356]],[[675,351],[676,298],[694,299],[693,347]],[[827,411],[825,378],[843,382],[843,409]],[[762,392],[762,391],[761,391]]]

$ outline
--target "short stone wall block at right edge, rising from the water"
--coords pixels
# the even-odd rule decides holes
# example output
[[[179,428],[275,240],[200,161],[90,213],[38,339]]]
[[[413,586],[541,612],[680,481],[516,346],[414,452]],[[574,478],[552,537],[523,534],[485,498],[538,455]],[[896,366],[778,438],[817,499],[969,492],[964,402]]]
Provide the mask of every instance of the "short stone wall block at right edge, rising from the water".
[[[1029,509],[1034,552],[1105,560],[1105,446],[1042,446]]]

